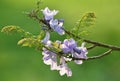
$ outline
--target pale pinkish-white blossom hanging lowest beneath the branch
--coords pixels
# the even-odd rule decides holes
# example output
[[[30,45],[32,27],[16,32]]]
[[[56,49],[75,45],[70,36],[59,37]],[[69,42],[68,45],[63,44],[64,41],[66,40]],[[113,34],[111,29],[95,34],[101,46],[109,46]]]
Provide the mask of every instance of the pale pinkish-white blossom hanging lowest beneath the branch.
[[[61,76],[66,74],[68,77],[70,77],[70,76],[72,76],[72,71],[68,67],[68,65],[65,61],[66,61],[65,58],[61,57],[61,59],[60,59],[61,64],[59,65],[59,73]]]

